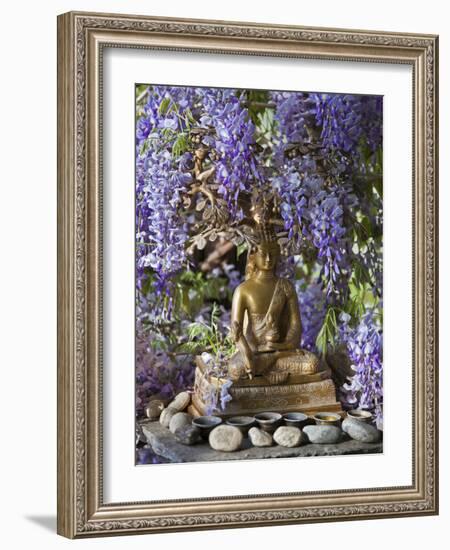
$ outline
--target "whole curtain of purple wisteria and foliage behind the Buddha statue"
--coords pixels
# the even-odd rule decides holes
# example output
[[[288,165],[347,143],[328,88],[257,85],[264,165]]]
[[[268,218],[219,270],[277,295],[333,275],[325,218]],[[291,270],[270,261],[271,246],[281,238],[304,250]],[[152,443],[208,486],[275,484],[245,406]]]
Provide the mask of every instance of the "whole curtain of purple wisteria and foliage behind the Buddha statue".
[[[381,97],[141,85],[136,107],[138,410],[152,391],[192,383],[180,346],[214,303],[225,338],[229,290],[244,277],[245,201],[269,191],[299,296],[299,345],[345,345],[355,374],[342,400],[381,423]],[[227,231],[235,265],[199,269]]]

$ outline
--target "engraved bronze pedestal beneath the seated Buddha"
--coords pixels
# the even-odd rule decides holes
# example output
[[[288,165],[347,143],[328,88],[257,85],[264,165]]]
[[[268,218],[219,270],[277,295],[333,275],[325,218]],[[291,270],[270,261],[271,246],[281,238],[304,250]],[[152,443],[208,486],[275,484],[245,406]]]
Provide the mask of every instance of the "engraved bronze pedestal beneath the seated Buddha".
[[[206,366],[201,357],[197,357],[196,361],[194,395],[189,412],[202,416],[206,414],[202,396],[211,391],[211,386],[217,387],[219,381],[205,374]],[[222,417],[253,416],[266,411],[303,412],[308,415],[320,411],[342,412],[329,368],[322,368],[315,374],[290,375],[286,382],[280,384],[270,384],[264,376],[239,380],[231,386],[230,395],[232,400],[220,413]]]

